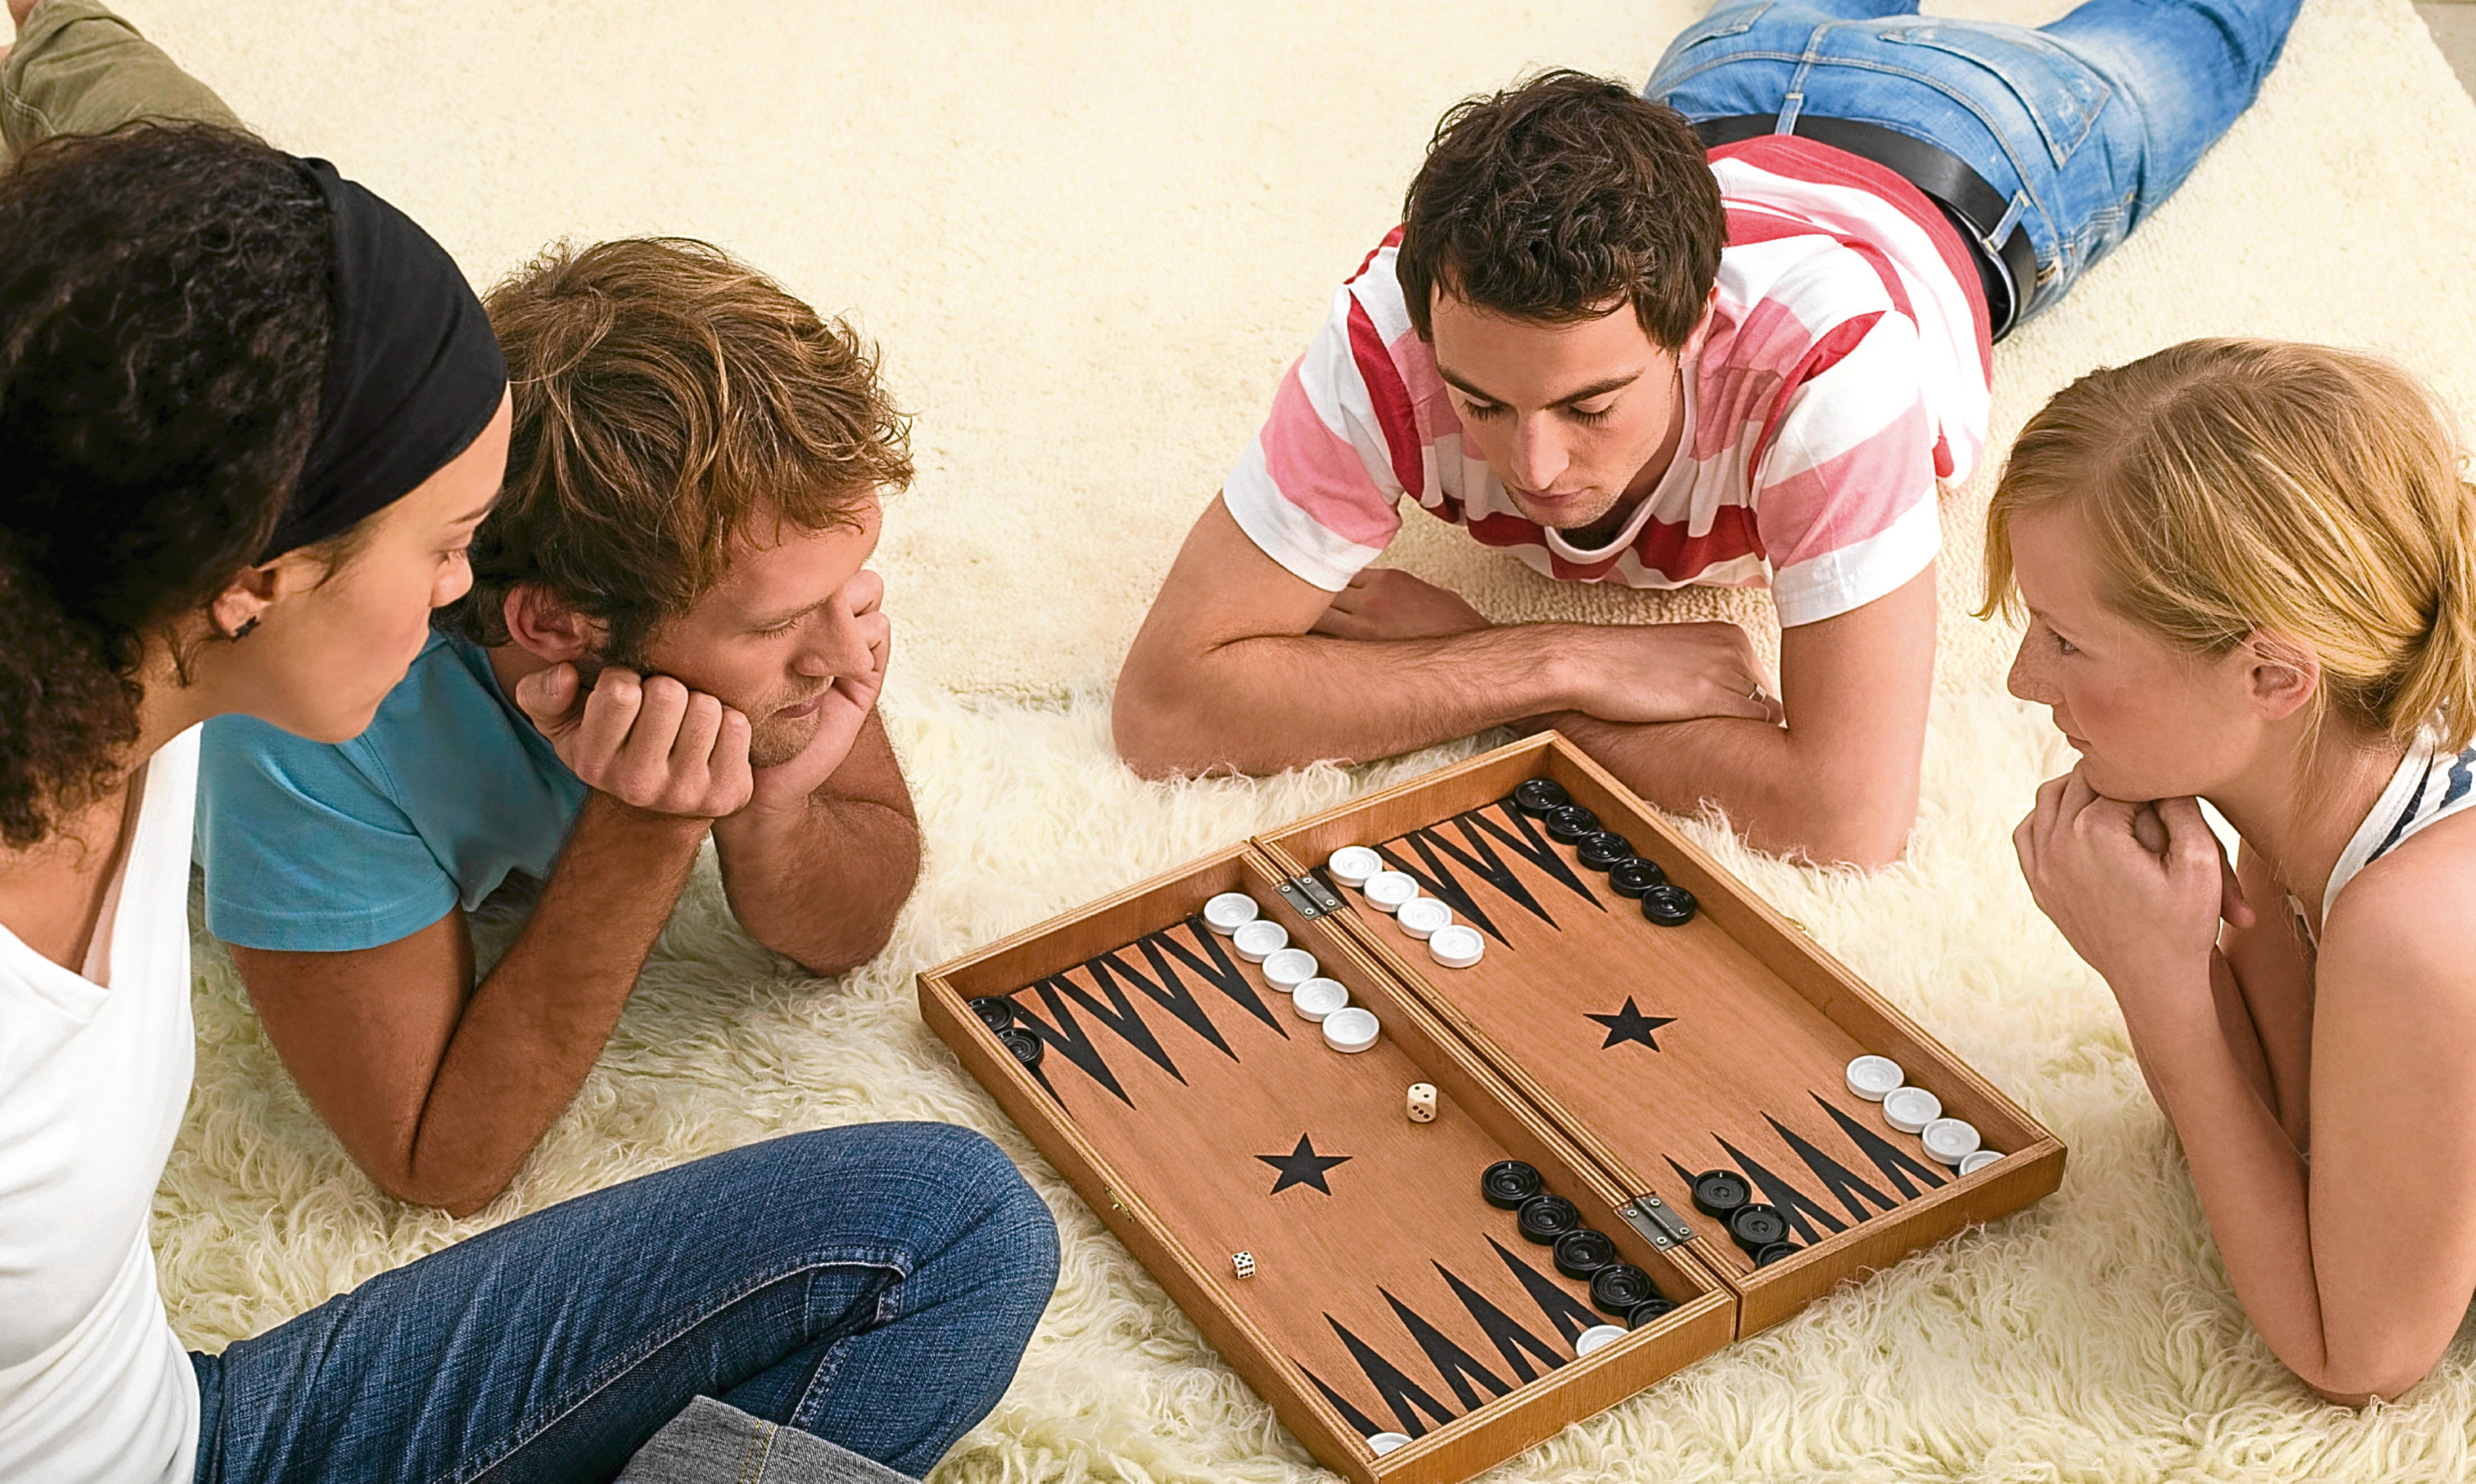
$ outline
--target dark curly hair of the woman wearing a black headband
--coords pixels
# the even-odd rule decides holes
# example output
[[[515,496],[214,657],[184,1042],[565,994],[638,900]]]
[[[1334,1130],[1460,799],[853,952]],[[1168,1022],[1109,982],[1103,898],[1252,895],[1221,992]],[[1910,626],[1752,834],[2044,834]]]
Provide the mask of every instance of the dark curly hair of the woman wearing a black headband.
[[[317,431],[327,206],[208,124],[62,136],[0,176],[0,840],[109,790],[146,637],[265,548]]]

